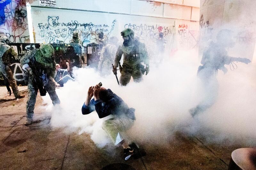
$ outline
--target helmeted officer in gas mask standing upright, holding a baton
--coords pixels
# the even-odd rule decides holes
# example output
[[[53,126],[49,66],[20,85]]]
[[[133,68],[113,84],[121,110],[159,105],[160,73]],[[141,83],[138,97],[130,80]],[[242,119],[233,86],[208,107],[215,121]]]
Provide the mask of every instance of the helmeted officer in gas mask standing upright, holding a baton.
[[[120,84],[126,86],[131,80],[131,76],[135,82],[143,80],[142,73],[146,71],[146,75],[149,72],[149,59],[148,52],[144,43],[140,43],[137,39],[134,39],[134,32],[127,28],[121,32],[124,42],[118,47],[116,52],[116,58],[113,65],[113,73],[117,74],[116,67],[124,54],[123,69],[120,77]],[[146,68],[140,64],[144,60]],[[142,69],[144,71],[142,71]]]

